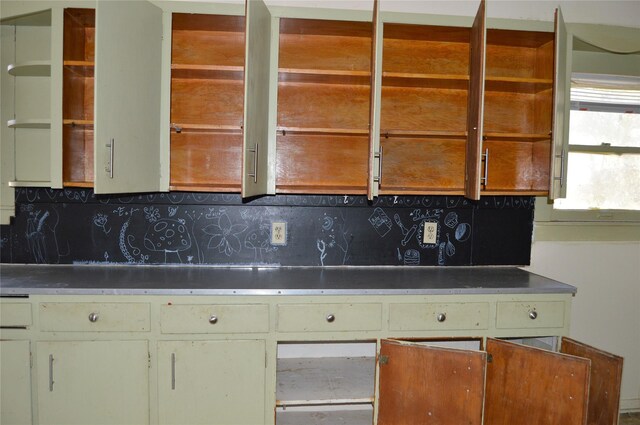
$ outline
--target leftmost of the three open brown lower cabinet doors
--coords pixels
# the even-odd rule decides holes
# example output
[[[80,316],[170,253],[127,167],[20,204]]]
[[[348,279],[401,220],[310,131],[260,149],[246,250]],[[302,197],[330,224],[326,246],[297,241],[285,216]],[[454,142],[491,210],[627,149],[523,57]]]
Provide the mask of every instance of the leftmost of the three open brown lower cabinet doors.
[[[382,340],[378,425],[480,425],[486,353]]]

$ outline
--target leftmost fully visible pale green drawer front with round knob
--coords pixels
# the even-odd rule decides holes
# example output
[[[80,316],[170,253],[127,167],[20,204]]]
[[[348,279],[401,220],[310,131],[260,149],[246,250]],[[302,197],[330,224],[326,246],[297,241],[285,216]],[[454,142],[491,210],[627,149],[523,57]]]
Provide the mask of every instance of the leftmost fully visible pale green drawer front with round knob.
[[[41,303],[43,331],[148,332],[149,304]]]

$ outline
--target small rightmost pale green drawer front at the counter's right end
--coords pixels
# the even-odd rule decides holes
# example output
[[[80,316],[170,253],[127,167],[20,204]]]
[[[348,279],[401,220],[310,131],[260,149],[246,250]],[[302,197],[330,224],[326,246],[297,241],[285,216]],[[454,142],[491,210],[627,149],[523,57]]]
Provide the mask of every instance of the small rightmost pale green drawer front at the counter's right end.
[[[564,302],[499,302],[496,327],[562,328],[564,327]]]

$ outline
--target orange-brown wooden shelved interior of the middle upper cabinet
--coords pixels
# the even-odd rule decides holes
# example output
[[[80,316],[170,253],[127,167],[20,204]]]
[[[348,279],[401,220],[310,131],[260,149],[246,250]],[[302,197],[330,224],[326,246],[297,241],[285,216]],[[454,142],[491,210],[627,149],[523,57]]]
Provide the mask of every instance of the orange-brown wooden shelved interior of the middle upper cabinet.
[[[280,19],[276,191],[365,194],[370,22]]]

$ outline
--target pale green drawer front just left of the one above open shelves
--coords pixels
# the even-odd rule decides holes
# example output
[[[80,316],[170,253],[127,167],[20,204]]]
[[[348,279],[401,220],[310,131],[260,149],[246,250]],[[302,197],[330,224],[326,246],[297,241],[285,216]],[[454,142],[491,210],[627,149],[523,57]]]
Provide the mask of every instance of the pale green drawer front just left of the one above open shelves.
[[[167,304],[160,308],[160,330],[165,334],[269,332],[269,306]]]

